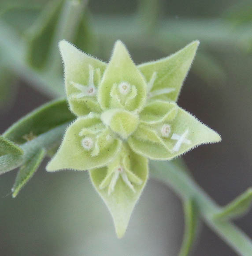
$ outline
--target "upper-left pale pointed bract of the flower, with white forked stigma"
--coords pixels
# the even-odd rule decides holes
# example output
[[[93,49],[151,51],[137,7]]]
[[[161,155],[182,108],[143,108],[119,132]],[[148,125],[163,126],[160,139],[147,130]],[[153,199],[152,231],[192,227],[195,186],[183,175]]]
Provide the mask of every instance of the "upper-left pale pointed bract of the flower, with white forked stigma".
[[[77,116],[100,112],[97,90],[106,64],[83,53],[67,41],[59,43],[64,62],[65,86],[71,111]]]

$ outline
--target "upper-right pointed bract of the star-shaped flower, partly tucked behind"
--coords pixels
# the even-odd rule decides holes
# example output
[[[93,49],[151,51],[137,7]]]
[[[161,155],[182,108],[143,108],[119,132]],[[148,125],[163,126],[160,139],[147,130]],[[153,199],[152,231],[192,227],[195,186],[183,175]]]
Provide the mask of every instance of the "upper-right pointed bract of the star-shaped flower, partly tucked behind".
[[[199,41],[193,41],[166,58],[137,66],[147,81],[148,98],[177,101],[198,45]]]

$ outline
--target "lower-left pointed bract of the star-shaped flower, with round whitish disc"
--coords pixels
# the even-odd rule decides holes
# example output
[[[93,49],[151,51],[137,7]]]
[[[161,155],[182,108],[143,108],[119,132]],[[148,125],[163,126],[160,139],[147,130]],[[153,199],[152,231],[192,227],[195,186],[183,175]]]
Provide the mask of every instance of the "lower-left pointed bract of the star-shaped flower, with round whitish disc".
[[[47,166],[59,169],[87,170],[107,165],[121,148],[121,140],[104,126],[98,115],[79,117],[67,128],[59,151]]]

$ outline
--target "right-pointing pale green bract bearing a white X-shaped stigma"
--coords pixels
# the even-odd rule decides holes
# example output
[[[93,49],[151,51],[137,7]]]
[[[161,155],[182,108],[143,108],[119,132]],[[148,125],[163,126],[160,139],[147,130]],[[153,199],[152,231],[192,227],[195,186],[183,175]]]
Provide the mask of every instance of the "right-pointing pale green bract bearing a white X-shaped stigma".
[[[204,143],[219,142],[218,133],[173,102],[146,105],[143,122],[129,137],[133,151],[151,159],[170,160]]]

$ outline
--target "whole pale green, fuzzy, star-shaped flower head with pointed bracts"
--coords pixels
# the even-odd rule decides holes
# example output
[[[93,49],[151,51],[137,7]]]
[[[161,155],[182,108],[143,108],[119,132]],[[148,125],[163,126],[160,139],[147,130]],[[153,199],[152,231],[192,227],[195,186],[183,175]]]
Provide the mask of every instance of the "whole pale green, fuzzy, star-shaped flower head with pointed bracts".
[[[175,103],[198,44],[138,66],[121,41],[108,64],[66,41],[59,44],[67,99],[77,119],[47,170],[89,170],[118,237],[145,187],[148,158],[170,160],[221,139]]]

